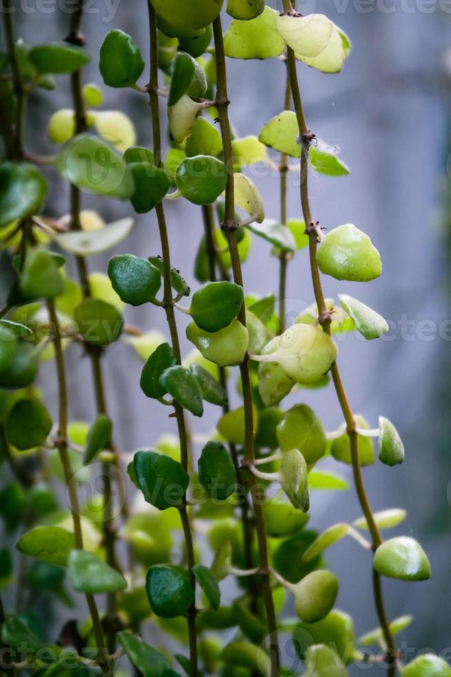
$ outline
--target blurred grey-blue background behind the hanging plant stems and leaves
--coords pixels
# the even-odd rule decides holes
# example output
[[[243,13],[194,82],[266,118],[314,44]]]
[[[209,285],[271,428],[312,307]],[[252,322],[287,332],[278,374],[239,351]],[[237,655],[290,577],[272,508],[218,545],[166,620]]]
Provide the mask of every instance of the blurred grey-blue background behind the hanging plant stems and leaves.
[[[17,3],[17,35],[29,44],[63,39],[69,15],[59,3],[41,10]],[[277,3],[269,3],[277,8]],[[368,285],[338,283],[324,278],[325,293],[357,296],[381,312],[390,332],[365,343],[350,334],[339,341],[339,362],[355,412],[377,426],[379,414],[397,426],[406,448],[401,467],[380,464],[364,469],[372,508],[404,507],[407,521],[399,533],[417,537],[432,565],[428,582],[409,584],[384,580],[390,617],[412,613],[415,620],[402,640],[417,652],[428,647],[448,651],[450,658],[451,589],[448,586],[451,522],[451,4],[442,1],[309,0],[298,3],[301,12],[324,12],[350,35],[351,57],[340,75],[323,75],[299,64],[306,115],[312,131],[337,146],[352,173],[330,178],[312,173],[310,191],[315,218],[327,228],[353,222],[368,233],[381,251],[383,275]],[[130,33],[148,53],[145,3],[97,0],[83,20],[93,58],[85,82],[99,82],[98,54],[103,37],[112,28]],[[3,39],[3,36],[2,36]],[[270,61],[228,59],[230,115],[239,135],[257,134],[270,117],[283,109],[285,67]],[[145,84],[145,81],[142,83]],[[59,77],[57,90],[38,90],[29,106],[26,147],[48,154],[50,115],[68,107],[68,78]],[[147,99],[132,90],[103,86],[103,108],[128,113],[137,126],[138,144],[151,144]],[[162,113],[164,113],[163,103]],[[250,173],[265,201],[266,216],[279,216],[279,178],[261,168]],[[48,216],[68,211],[66,188],[50,174],[53,189],[46,204]],[[300,216],[299,183],[290,174],[288,214]],[[117,200],[83,198],[83,207],[95,208],[106,222],[128,216],[131,207]],[[174,265],[196,288],[192,267],[201,236],[199,208],[186,201],[167,203]],[[136,216],[132,235],[118,251],[140,256],[159,254],[154,213]],[[116,252],[113,252],[116,253]],[[90,258],[91,270],[106,271],[108,256]],[[288,322],[313,301],[307,252],[288,269]],[[8,285],[9,264],[1,259],[2,295]],[[247,292],[276,291],[278,261],[270,245],[254,238],[244,265]],[[3,301],[3,298],[1,298]],[[152,307],[126,310],[128,320],[143,330],[166,332],[163,313]],[[185,319],[179,318],[183,332]],[[184,343],[185,352],[190,350]],[[72,419],[92,419],[90,369],[78,347],[66,352],[70,373]],[[173,431],[158,403],[139,388],[142,364],[125,344],[115,345],[106,358],[108,405],[123,450],[150,448],[161,432]],[[46,402],[56,413],[54,365],[41,369]],[[283,402],[284,408],[305,401],[319,414],[325,428],[341,423],[334,390],[301,390]],[[210,418],[209,418],[209,414]],[[196,432],[207,433],[216,412],[197,419]],[[200,449],[197,449],[200,451]],[[348,466],[331,467],[350,479]],[[130,488],[130,484],[128,484]],[[322,529],[360,515],[354,490],[314,493],[310,526]],[[377,622],[370,589],[368,555],[353,542],[343,542],[328,553],[330,568],[339,575],[337,606],[354,617],[357,633]],[[226,598],[226,595],[225,595]],[[446,657],[447,654],[444,654]],[[357,670],[356,674],[361,670]],[[366,670],[379,674],[377,668]]]

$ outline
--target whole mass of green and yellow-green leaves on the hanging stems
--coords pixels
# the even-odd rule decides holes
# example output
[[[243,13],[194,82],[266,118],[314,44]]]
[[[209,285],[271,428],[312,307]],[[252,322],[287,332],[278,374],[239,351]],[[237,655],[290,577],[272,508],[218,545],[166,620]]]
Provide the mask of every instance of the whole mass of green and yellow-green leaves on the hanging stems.
[[[386,332],[388,325],[361,301],[339,294],[340,306],[333,299],[326,301],[332,336],[323,330],[315,303],[300,308],[297,320],[285,329],[275,294],[247,296],[241,285],[231,281],[232,256],[220,227],[230,168],[216,124],[220,105],[215,99],[217,58],[210,46],[211,24],[217,21],[222,2],[151,3],[151,12],[157,12],[157,54],[168,104],[169,148],[162,162],[159,153],[136,145],[134,125],[126,115],[99,110],[101,87],[87,84],[79,92],[82,131],[80,100],[50,117],[48,136],[59,146],[51,164],[72,191],[99,196],[99,211],[103,200],[110,198],[128,200],[130,211],[139,214],[162,209],[165,198],[184,198],[203,207],[206,229],[194,261],[194,278],[201,286],[193,294],[179,270],[168,267],[164,247],[163,258],[117,254],[110,258],[108,271],[86,273],[86,279],[82,275],[78,282],[68,277],[66,257],[77,257],[86,272],[86,259],[119,247],[134,220],[106,225],[99,213],[79,211],[77,205],[72,205],[69,215],[43,216],[47,180],[39,159],[27,161],[23,153],[20,109],[34,88],[51,90],[54,76],[78,75],[90,55],[83,46],[67,42],[30,48],[12,41],[12,50],[0,57],[5,140],[5,158],[0,163],[0,236],[14,276],[0,320],[0,449],[2,461],[12,471],[12,479],[1,488],[0,514],[18,551],[1,551],[0,584],[3,588],[14,582],[30,589],[21,613],[1,618],[1,641],[13,653],[25,643],[27,667],[41,675],[79,674],[83,664],[88,664],[83,651],[73,647],[101,648],[95,615],[78,623],[66,642],[71,647],[67,651],[65,642],[49,645],[34,614],[50,593],[56,603],[67,607],[73,606],[74,593],[105,593],[110,595],[114,618],[104,614],[103,630],[112,635],[112,647],[119,644],[145,677],[177,675],[178,670],[193,674],[192,651],[190,658],[186,656],[184,617],[190,622],[194,617],[204,673],[269,676],[274,674],[265,642],[269,618],[259,575],[268,573],[259,571],[263,538],[270,556],[279,628],[294,636],[305,674],[344,676],[347,665],[361,660],[363,647],[384,648],[385,635],[377,628],[354,639],[352,618],[334,607],[339,581],[325,562],[325,551],[346,536],[370,549],[362,535],[368,531],[367,519],[334,524],[323,533],[306,528],[310,493],[348,488],[345,479],[324,468],[324,459],[332,457],[348,465],[353,459],[345,424],[325,432],[305,401],[309,388],[328,386],[328,372],[337,359],[336,332],[357,331],[372,340]],[[304,64],[323,73],[338,73],[350,53],[348,37],[323,15],[301,17],[291,12],[279,16],[263,0],[228,0],[226,9],[233,19],[224,36],[230,58],[281,57],[288,48]],[[10,17],[6,28],[11,35]],[[155,83],[144,87],[138,82],[144,68],[145,59],[132,37],[117,29],[108,32],[99,57],[104,84],[152,96]],[[337,177],[350,171],[327,144],[303,147],[292,111],[272,117],[258,136],[233,133],[235,236],[241,263],[250,254],[253,237],[267,242],[270,254],[281,260],[306,257],[309,236],[303,220],[281,223],[265,218],[259,190],[243,173],[257,163],[274,166],[270,153],[289,158],[293,164],[288,171],[297,172],[299,166],[294,162],[303,152],[308,152],[314,171]],[[379,252],[354,225],[339,225],[326,236],[318,231],[318,236],[317,265],[323,274],[353,282],[368,282],[381,274]],[[185,271],[186,276],[191,273]],[[187,298],[189,307],[179,305]],[[147,304],[166,312],[170,306],[190,316],[186,336],[193,349],[183,360],[174,336],[169,342],[151,327],[136,330],[126,325],[127,305]],[[128,464],[128,491],[136,487],[149,505],[131,515],[124,513],[117,520],[120,524],[114,524],[116,520],[107,515],[106,495],[95,495],[81,506],[81,548],[74,515],[59,505],[49,478],[70,483],[76,473],[77,479],[84,480],[94,461],[113,468],[122,455],[112,443],[113,423],[105,410],[99,410],[90,425],[72,421],[67,439],[61,439],[61,415],[58,423],[52,421],[37,388],[39,365],[56,357],[61,377],[61,349],[77,350],[81,345],[101,360],[118,341],[128,343],[143,362],[141,390],[156,401],[143,401],[143,411],[168,406],[176,414],[181,412],[182,421],[186,412],[202,417],[206,406],[219,407],[221,413],[216,430],[210,432],[198,457],[193,453],[189,465],[181,450],[183,440],[172,433],[155,440],[152,448],[135,452]],[[229,399],[235,379],[237,393],[243,394],[236,369],[243,363],[250,370],[254,463],[246,462],[241,468],[248,411],[245,403],[234,407]],[[59,387],[61,408],[61,379]],[[282,408],[290,394],[298,400],[300,395],[302,402]],[[372,437],[378,440],[383,464],[402,463],[403,444],[388,419],[380,417],[376,430],[361,416],[355,417],[355,423],[361,466],[375,461]],[[259,531],[262,525],[252,517],[248,473],[261,486],[263,533]],[[71,507],[74,513],[73,503]],[[184,520],[187,508],[188,519]],[[394,528],[405,512],[392,508],[373,518],[379,529]],[[186,546],[180,556],[182,525]],[[126,542],[130,551],[127,564],[118,564],[108,548],[108,533],[117,527],[116,538]],[[194,549],[194,566],[190,566],[189,555],[192,535],[206,541],[199,551]],[[14,557],[19,553],[24,559],[16,580]],[[384,541],[374,553],[373,566],[380,575],[399,580],[430,576],[421,546],[407,536]],[[220,583],[229,576],[238,577],[239,587],[232,595],[228,589],[230,599],[225,604]],[[290,604],[287,593],[294,598],[296,618],[292,620],[282,620],[283,609]],[[394,620],[390,630],[401,632],[410,620]],[[168,647],[153,647],[137,636],[148,622],[179,642],[179,667]],[[43,647],[52,649],[52,658],[41,657]],[[77,669],[59,668],[63,650]],[[295,674],[294,670],[287,667],[284,674]],[[451,669],[428,655],[403,667],[403,674],[445,677]]]

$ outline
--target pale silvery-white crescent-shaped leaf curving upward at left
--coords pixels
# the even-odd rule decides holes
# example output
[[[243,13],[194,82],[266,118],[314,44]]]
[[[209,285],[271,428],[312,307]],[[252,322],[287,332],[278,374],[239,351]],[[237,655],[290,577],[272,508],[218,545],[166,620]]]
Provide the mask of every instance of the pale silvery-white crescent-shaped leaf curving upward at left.
[[[54,240],[63,251],[68,251],[69,254],[94,256],[117,247],[130,235],[133,225],[132,218],[123,218],[98,230],[60,233]]]

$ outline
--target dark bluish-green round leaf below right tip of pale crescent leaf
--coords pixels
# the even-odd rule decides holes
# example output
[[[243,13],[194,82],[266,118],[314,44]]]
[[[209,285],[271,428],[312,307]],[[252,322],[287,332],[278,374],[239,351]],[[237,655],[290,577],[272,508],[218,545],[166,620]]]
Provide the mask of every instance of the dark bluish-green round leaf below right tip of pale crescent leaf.
[[[120,254],[108,263],[108,277],[121,301],[143,305],[154,300],[161,287],[161,275],[145,258]]]

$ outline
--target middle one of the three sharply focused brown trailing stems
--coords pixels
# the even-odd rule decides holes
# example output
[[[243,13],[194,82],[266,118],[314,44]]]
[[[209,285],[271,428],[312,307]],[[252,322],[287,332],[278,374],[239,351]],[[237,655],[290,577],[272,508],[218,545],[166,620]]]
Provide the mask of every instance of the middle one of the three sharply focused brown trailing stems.
[[[241,260],[239,258],[237,244],[237,222],[234,220],[234,175],[233,175],[233,156],[232,156],[232,138],[230,135],[230,122],[228,117],[228,93],[227,93],[227,74],[226,74],[226,56],[224,53],[221,17],[213,22],[214,48],[216,50],[217,60],[217,99],[216,105],[219,113],[219,123],[221,125],[221,137],[223,143],[224,162],[228,173],[226,184],[226,205],[224,213],[224,222],[222,229],[226,234],[230,258],[232,261],[232,272],[234,282],[243,287],[243,274],[241,271]],[[243,303],[239,313],[239,320],[245,326],[245,305]],[[244,447],[244,466],[253,466],[254,457],[254,425],[252,411],[252,390],[250,386],[249,366],[247,356],[240,367],[241,383],[243,385],[243,405],[245,412],[245,447]],[[268,543],[265,534],[265,522],[263,519],[263,493],[261,486],[257,483],[252,473],[248,472],[248,485],[252,504],[254,506],[255,528],[257,531],[257,541],[259,545],[259,574],[262,578],[262,592],[265,602],[266,616],[268,618],[268,631],[270,638],[270,658],[271,675],[277,677],[280,670],[279,641],[277,638],[277,620],[274,610],[274,600],[272,599],[272,589],[270,583],[270,569],[268,561]]]

